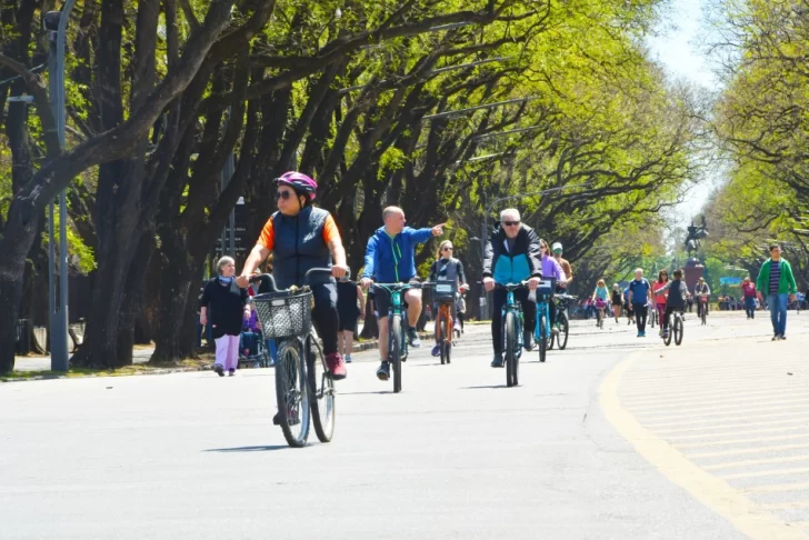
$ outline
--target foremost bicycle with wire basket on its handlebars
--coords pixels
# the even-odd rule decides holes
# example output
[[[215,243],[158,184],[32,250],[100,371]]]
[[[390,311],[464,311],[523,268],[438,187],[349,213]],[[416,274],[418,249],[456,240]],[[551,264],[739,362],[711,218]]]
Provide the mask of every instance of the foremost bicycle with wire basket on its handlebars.
[[[313,273],[331,273],[329,268],[313,268]],[[279,291],[271,274],[256,279],[269,283],[271,292],[253,297],[266,339],[278,346],[276,361],[276,400],[279,424],[290,447],[306,446],[311,416],[314,432],[321,442],[334,436],[334,381],[312,327],[312,292],[308,286]],[[303,361],[306,359],[306,361]]]

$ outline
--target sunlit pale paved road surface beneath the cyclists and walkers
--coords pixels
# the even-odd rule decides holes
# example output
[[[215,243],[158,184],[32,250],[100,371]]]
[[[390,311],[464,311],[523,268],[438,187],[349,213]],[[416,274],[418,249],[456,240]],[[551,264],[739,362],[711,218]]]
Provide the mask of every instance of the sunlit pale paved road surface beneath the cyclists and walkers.
[[[721,479],[730,491],[716,491],[687,466],[710,480],[719,472],[703,467],[737,457],[700,457],[713,448],[672,447],[686,442],[662,432],[675,429],[667,423],[703,427],[699,414],[727,407],[708,401],[753,392],[759,401],[736,418],[759,406],[756,414],[772,417],[758,421],[786,427],[775,422],[790,417],[762,403],[793,399],[787,411],[806,419],[800,387],[786,398],[766,379],[788,368],[806,384],[797,358],[809,336],[798,320],[783,343],[763,342],[766,322],[745,324],[743,316],[708,328],[691,320],[679,350],[623,323],[598,331],[578,322],[569,350],[552,351],[547,364],[529,354],[513,389],[488,367],[486,328],[470,329],[451,366],[437,366],[427,348],[412,354],[400,394],[373,377],[376,352],[363,353],[338,387],[336,440],[301,450],[271,426],[271,369],[0,384],[0,537],[802,538],[809,510],[793,504],[805,497],[771,488],[748,499],[745,478]],[[772,370],[758,362],[746,377],[730,362],[748,341],[792,361],[765,356]],[[709,392],[720,387],[728,391]],[[748,443],[758,442],[731,444]],[[787,468],[798,464],[778,466]],[[678,478],[681,470],[690,477]],[[761,508],[770,503],[791,506]],[[728,512],[739,504],[752,526]]]

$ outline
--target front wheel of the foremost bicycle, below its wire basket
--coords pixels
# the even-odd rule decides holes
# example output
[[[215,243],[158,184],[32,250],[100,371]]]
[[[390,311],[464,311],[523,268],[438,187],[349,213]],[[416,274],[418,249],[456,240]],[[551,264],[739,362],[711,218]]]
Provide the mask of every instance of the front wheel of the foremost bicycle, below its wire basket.
[[[301,448],[309,438],[309,391],[306,364],[298,340],[287,340],[278,351],[276,399],[281,431],[290,447]]]

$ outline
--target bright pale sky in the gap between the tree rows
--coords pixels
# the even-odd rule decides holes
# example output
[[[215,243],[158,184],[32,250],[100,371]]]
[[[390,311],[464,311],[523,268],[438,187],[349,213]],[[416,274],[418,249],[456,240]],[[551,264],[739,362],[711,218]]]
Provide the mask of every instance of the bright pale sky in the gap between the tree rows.
[[[663,66],[671,78],[686,79],[716,91],[720,89],[720,83],[698,42],[705,31],[705,0],[672,1],[656,28],[656,36],[648,38],[647,43],[652,58]],[[708,199],[719,182],[719,178],[711,178],[693,187],[675,210],[671,224],[688,224],[691,216],[699,212],[701,202]]]

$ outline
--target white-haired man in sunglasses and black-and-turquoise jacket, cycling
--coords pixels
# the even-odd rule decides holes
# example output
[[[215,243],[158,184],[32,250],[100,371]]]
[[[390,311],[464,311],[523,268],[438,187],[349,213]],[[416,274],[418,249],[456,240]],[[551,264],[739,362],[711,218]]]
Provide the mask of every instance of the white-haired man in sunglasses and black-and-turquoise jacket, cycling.
[[[509,208],[500,212],[500,227],[486,243],[483,257],[483,288],[495,290],[497,283],[519,283],[528,280],[530,291],[537,290],[542,279],[542,263],[539,237],[530,227],[520,222],[520,212]],[[491,312],[491,339],[495,348],[492,368],[502,368],[502,308],[506,304],[505,289],[495,290]],[[533,327],[537,319],[537,302],[529,299],[529,291],[518,289],[515,299],[522,304],[525,316],[523,343],[532,348]]]

